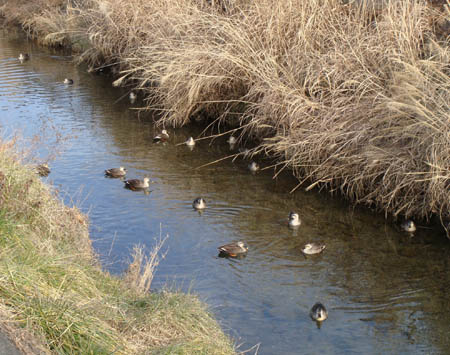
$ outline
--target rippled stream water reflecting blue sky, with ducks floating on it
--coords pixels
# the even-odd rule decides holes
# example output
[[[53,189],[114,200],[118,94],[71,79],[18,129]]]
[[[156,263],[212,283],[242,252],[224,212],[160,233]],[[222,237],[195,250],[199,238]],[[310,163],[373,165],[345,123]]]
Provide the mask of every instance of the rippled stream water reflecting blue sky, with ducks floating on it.
[[[20,63],[20,52],[31,60]],[[73,86],[62,83],[74,79]],[[230,154],[225,137],[177,146],[201,127],[170,129],[168,144],[152,144],[149,114],[139,115],[125,89],[75,67],[71,58],[0,35],[2,135],[20,130],[50,162],[48,181],[89,213],[91,236],[103,265],[126,267],[132,246],[168,235],[166,258],[153,287],[191,290],[210,306],[241,350],[259,354],[448,353],[449,243],[442,231],[401,233],[383,216],[353,209],[338,198],[299,189],[273,170],[252,175],[248,161],[203,164]],[[39,136],[40,138],[37,138]],[[262,162],[264,164],[264,162]],[[150,194],[123,188],[103,170],[125,166],[128,177],[150,176]],[[203,196],[209,208],[191,207]],[[303,224],[289,230],[289,211]],[[217,246],[245,241],[248,256],[217,257]],[[300,250],[321,241],[326,250]],[[309,309],[323,302],[329,318],[319,329]]]

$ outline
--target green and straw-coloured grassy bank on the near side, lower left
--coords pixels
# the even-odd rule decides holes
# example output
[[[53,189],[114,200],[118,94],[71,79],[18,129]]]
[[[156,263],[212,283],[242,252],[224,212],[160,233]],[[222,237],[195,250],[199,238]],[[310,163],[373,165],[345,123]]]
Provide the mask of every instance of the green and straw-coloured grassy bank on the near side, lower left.
[[[196,297],[149,292],[160,244],[136,249],[131,281],[103,272],[85,216],[5,142],[0,235],[0,329],[25,354],[234,353]]]

